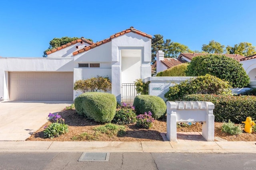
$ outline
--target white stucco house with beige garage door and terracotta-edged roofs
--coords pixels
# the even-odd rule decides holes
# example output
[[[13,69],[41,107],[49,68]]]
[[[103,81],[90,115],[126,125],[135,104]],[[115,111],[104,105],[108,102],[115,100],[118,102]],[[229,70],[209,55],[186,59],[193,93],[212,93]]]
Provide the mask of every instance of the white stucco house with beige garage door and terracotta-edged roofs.
[[[151,76],[151,38],[133,27],[94,43],[84,38],[47,52],[42,58],[0,58],[0,100],[66,100],[79,79],[108,76],[122,101],[122,84]]]

